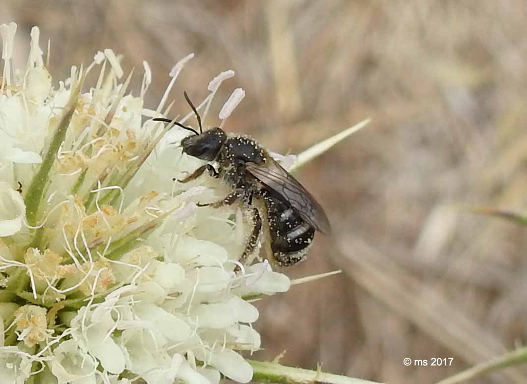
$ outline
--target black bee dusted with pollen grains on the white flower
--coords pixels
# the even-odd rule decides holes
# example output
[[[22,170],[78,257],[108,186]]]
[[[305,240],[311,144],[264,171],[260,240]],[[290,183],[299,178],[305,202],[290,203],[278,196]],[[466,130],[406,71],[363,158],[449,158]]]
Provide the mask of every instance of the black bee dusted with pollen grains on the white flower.
[[[232,191],[219,201],[199,206],[219,208],[241,201],[248,207],[253,227],[240,257],[242,264],[258,245],[262,216],[270,237],[270,252],[267,253],[271,263],[291,266],[304,260],[315,232],[328,235],[331,231],[324,209],[256,140],[226,133],[218,127],[203,132],[196,107],[187,92],[183,95],[196,115],[199,132],[169,119],[153,120],[173,123],[191,131],[193,135],[181,140],[183,152],[208,163],[178,181],[188,183],[207,170],[211,177],[220,178]],[[218,170],[209,161],[216,161]],[[259,205],[263,206],[264,215],[256,207],[258,202],[263,203]]]

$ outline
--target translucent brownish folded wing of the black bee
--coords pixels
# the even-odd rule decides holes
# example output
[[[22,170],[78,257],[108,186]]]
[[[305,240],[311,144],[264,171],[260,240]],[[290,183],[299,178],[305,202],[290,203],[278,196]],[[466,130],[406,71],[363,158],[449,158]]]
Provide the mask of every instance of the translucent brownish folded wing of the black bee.
[[[326,235],[331,232],[329,220],[324,213],[324,209],[317,203],[317,200],[302,187],[298,181],[289,174],[276,161],[268,159],[264,165],[247,163],[246,169],[256,177],[261,183],[265,184],[277,194],[282,196],[291,207],[295,208],[300,217],[317,231]]]

